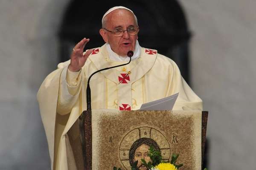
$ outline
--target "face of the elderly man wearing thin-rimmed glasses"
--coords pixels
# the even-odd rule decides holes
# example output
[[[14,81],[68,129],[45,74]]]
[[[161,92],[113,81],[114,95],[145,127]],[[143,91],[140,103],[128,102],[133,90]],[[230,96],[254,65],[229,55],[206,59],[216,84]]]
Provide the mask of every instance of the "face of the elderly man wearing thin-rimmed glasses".
[[[126,9],[116,9],[108,14],[106,29],[113,31],[117,28],[127,30],[128,27],[136,27],[134,15]],[[127,56],[128,51],[134,51],[138,35],[129,35],[127,31],[121,37],[115,37],[111,32],[100,30],[105,42],[108,42],[111,49],[120,56]]]

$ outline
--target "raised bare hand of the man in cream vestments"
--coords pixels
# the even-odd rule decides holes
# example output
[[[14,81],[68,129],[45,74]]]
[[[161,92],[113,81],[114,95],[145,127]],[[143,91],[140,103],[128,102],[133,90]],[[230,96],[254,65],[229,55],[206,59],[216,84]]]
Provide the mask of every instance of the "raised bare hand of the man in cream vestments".
[[[89,42],[89,38],[84,38],[79,43],[76,44],[76,46],[73,48],[73,52],[70,57],[70,65],[68,66],[68,69],[72,72],[79,71],[83,66],[89,55],[93,52],[93,49],[87,50],[85,54],[84,53],[84,47]]]

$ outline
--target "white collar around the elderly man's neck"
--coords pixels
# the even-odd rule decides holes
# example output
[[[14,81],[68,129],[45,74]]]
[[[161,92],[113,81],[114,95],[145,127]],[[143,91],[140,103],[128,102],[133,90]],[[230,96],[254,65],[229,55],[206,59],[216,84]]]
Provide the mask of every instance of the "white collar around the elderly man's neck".
[[[129,61],[129,57],[123,57],[123,56],[119,56],[118,54],[116,54],[110,47],[109,43],[106,43],[106,48],[108,51],[108,56],[109,59],[113,60],[113,61]],[[138,42],[138,40],[136,40],[136,45],[135,45],[135,49],[134,49],[134,55],[133,57],[131,57],[131,60],[137,59],[138,57],[140,57],[140,44]]]

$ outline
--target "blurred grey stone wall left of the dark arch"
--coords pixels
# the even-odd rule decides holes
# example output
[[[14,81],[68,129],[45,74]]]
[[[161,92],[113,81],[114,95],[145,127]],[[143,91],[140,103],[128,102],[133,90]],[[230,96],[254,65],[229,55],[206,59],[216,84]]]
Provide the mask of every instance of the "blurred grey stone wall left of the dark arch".
[[[68,0],[0,1],[0,169],[49,170],[36,94],[58,61]]]

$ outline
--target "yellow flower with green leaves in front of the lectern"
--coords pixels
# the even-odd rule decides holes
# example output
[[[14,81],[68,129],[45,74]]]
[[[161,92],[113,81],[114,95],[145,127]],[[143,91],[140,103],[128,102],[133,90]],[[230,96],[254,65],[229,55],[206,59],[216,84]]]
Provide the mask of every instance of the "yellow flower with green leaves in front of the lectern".
[[[172,154],[171,161],[163,161],[160,151],[155,150],[152,146],[148,150],[148,156],[151,161],[146,162],[144,159],[141,159],[143,166],[147,170],[178,170],[183,166],[183,164],[176,164],[179,154]],[[135,161],[131,166],[131,170],[139,170],[137,164],[138,161]],[[113,170],[121,170],[121,168],[113,167]],[[204,168],[204,170],[207,170],[207,168]]]

